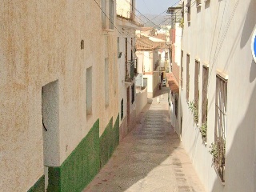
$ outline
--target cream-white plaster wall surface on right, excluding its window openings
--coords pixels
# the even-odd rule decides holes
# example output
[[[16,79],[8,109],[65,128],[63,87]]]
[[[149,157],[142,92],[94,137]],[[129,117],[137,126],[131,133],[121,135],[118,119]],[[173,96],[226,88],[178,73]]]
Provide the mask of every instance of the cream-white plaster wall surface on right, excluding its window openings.
[[[186,5],[186,1],[185,1]],[[183,90],[182,142],[207,191],[255,191],[256,178],[256,63],[250,42],[255,29],[254,0],[207,1],[192,6],[191,22],[184,21],[182,36]],[[199,126],[202,109],[202,65],[209,66],[208,137],[202,143],[198,127],[186,104],[186,54],[190,53],[190,101],[194,99],[194,62],[200,60]],[[226,174],[222,186],[212,165],[209,146],[214,142],[216,73],[228,75],[226,124]]]

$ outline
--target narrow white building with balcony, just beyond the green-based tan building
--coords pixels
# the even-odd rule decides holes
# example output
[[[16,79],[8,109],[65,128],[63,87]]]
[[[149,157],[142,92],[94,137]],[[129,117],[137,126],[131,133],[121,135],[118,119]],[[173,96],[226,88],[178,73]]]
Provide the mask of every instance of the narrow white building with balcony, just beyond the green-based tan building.
[[[120,109],[120,140],[133,129],[136,122],[135,77],[138,74],[135,55],[135,30],[140,24],[136,21],[135,1],[117,0],[118,35],[118,86]]]

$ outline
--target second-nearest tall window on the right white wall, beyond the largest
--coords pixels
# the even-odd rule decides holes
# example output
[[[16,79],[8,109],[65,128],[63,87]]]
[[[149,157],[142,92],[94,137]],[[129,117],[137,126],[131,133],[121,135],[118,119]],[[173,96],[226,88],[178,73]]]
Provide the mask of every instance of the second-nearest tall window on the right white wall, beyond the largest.
[[[207,123],[209,68],[202,66],[202,124]]]

